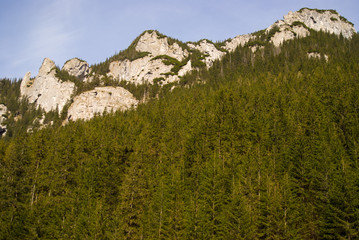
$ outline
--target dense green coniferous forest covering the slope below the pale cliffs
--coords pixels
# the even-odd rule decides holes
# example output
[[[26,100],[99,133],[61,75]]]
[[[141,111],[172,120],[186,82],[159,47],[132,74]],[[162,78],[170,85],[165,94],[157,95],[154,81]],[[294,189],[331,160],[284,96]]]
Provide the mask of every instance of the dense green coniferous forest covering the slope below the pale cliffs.
[[[1,139],[0,238],[359,239],[358,34],[239,47],[158,89]]]

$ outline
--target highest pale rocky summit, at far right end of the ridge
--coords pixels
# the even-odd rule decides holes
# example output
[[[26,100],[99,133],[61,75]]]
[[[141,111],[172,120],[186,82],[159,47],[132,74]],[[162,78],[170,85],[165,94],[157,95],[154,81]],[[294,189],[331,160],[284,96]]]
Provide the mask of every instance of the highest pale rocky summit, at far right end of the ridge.
[[[266,29],[269,34],[274,31],[271,42],[279,46],[284,41],[295,37],[306,37],[310,34],[308,29],[324,31],[336,35],[342,34],[345,38],[351,38],[356,30],[352,23],[340,16],[334,10],[317,10],[303,8],[296,12],[289,12]]]

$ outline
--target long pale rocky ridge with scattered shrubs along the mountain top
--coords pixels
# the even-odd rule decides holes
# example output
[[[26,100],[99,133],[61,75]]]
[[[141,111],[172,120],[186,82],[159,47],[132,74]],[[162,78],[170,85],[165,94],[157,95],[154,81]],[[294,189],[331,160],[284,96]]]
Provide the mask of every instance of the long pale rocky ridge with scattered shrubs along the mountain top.
[[[139,99],[125,89],[103,88],[108,81],[137,86],[158,84],[163,87],[178,83],[184,75],[201,65],[212,67],[215,61],[239,46],[248,47],[252,52],[262,50],[263,44],[268,43],[280,48],[284,41],[309,36],[311,31],[324,31],[344,38],[351,38],[356,33],[353,24],[335,10],[309,8],[289,12],[263,31],[238,35],[220,43],[206,39],[183,43],[158,31],[145,31],[127,50],[97,67],[91,67],[78,58],[68,60],[61,69],[62,75],[65,72],[70,76],[67,78],[61,78],[55,63],[45,58],[35,78],[31,78],[30,73],[25,74],[21,82],[21,97],[28,98],[30,103],[35,103],[45,112],[57,109],[61,113],[64,106],[72,101],[68,119],[87,120],[95,114],[137,106]],[[326,61],[330,59],[325,54],[308,53],[308,58],[320,56]],[[98,70],[100,68],[101,71]],[[96,88],[86,92],[77,91],[78,84],[83,83]]]

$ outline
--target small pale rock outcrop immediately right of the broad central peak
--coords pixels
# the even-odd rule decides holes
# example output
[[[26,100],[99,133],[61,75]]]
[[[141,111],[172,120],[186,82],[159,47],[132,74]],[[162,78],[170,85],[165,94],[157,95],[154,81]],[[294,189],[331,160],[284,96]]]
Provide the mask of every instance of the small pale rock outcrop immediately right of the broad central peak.
[[[189,43],[187,44],[191,49],[197,49],[203,53],[206,57],[204,62],[206,63],[207,68],[212,67],[215,60],[221,59],[226,52],[219,50],[213,43],[204,39],[198,43]]]

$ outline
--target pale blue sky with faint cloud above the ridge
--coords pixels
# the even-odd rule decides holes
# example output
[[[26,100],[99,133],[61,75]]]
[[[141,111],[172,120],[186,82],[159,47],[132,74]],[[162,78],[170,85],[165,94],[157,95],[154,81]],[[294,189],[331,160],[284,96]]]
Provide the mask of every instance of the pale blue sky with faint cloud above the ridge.
[[[0,0],[0,78],[34,77],[45,57],[100,63],[150,29],[223,41],[303,7],[335,9],[359,30],[358,0]]]

